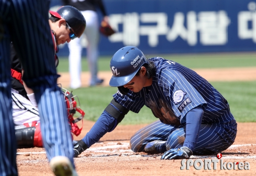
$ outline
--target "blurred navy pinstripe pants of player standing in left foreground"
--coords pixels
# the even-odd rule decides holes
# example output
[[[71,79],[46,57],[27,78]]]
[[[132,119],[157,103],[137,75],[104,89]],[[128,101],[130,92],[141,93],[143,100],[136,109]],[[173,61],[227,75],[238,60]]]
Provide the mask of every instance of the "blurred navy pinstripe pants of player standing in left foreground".
[[[38,103],[47,157],[73,161],[64,97],[57,86],[54,49],[48,23],[49,0],[0,0],[0,175],[18,175],[11,112],[10,42],[21,59],[23,80]]]

